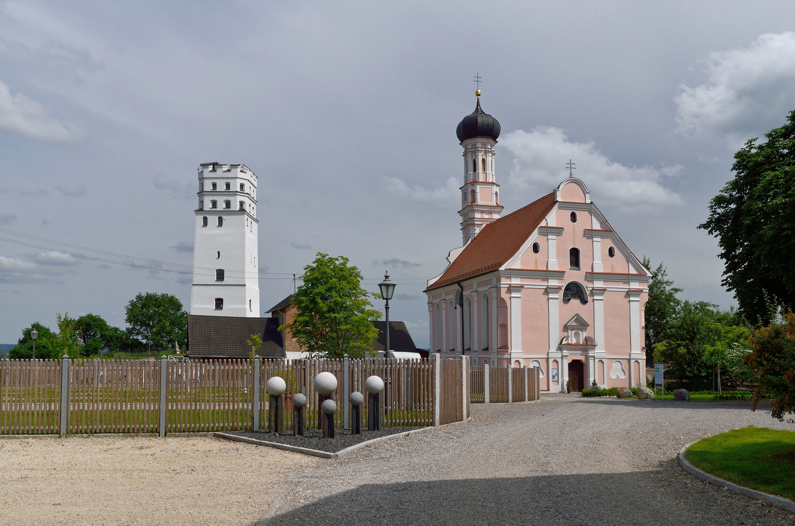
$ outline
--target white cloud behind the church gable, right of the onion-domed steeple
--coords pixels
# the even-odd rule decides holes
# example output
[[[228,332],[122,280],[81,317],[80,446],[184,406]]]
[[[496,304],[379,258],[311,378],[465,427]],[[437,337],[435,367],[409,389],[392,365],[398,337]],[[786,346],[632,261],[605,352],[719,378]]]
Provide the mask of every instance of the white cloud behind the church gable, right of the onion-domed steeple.
[[[679,195],[665,188],[665,176],[677,176],[680,166],[625,166],[611,161],[593,142],[572,142],[560,128],[540,126],[530,132],[516,130],[500,141],[514,155],[503,192],[529,190],[527,199],[552,191],[568,176],[564,164],[572,159],[574,175],[583,180],[596,203],[610,203],[626,210],[638,207],[678,206]],[[499,178],[499,176],[498,176]],[[499,182],[499,180],[498,180]],[[503,199],[506,194],[502,193]],[[529,201],[528,201],[529,202]]]

